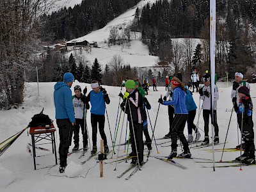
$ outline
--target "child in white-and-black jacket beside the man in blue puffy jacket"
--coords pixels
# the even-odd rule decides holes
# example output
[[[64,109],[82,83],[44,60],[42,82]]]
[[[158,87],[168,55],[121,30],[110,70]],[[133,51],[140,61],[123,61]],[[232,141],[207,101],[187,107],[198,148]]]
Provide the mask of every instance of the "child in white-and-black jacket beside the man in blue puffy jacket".
[[[90,105],[85,102],[86,100],[86,95],[83,95],[81,86],[76,85],[74,86],[74,92],[75,95],[72,96],[72,103],[73,103],[73,108],[75,112],[75,118],[76,118],[76,125],[74,127],[74,148],[72,149],[73,151],[76,151],[79,149],[79,130],[81,127],[81,131],[83,134],[83,150],[86,151],[88,150],[88,135],[87,131],[85,129],[86,127],[86,121],[84,121],[84,106],[86,109],[90,109]],[[85,122],[85,124],[84,124]]]

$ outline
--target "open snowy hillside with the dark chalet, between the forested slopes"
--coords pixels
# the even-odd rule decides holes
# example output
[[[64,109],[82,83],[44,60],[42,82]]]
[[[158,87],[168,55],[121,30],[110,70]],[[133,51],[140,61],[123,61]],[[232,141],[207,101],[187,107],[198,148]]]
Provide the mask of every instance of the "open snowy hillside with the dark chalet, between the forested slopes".
[[[92,33],[80,38],[70,40],[69,42],[81,40],[86,40],[88,42],[95,41],[99,48],[93,47],[92,52],[70,51],[67,53],[67,56],[70,56],[72,53],[76,60],[90,61],[91,64],[94,62],[95,58],[97,58],[102,68],[104,68],[115,55],[120,55],[124,60],[124,64],[130,64],[131,67],[152,67],[153,65],[156,65],[158,57],[150,56],[148,54],[148,47],[141,43],[140,34],[136,34],[136,36],[131,35],[132,42],[129,46],[125,44],[108,47],[108,44],[106,43],[108,41],[109,31],[111,28],[114,26],[117,27],[118,33],[121,35],[123,30],[127,26],[131,25],[136,8],[142,8],[145,4],[154,2],[156,2],[156,0],[140,1],[136,6],[127,10],[127,12],[111,20],[111,22],[109,22],[104,28],[92,31]]]

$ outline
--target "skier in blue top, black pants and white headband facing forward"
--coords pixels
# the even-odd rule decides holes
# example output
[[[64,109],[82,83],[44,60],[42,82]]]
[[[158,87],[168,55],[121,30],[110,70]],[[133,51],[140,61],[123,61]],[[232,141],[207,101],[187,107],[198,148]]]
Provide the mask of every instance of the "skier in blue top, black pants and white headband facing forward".
[[[108,141],[104,131],[105,108],[110,103],[106,89],[100,86],[99,81],[91,82],[92,91],[86,97],[86,103],[91,102],[91,124],[92,124],[92,154],[97,153],[97,126],[102,140],[104,140],[104,153],[109,152]],[[105,104],[106,102],[106,104]]]

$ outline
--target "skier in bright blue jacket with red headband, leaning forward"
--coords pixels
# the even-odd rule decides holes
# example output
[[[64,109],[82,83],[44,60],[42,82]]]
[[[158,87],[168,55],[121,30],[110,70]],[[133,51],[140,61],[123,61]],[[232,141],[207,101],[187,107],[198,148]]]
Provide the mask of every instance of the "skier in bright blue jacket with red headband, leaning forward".
[[[173,77],[170,83],[173,90],[172,100],[164,101],[162,98],[158,100],[158,102],[164,106],[173,105],[175,111],[171,133],[172,152],[168,156],[168,159],[173,159],[173,157],[177,156],[177,136],[179,136],[184,148],[184,152],[179,154],[179,157],[189,158],[191,157],[191,153],[189,151],[188,141],[183,133],[188,118],[188,109],[186,108],[186,90],[184,88],[184,84],[177,77]]]

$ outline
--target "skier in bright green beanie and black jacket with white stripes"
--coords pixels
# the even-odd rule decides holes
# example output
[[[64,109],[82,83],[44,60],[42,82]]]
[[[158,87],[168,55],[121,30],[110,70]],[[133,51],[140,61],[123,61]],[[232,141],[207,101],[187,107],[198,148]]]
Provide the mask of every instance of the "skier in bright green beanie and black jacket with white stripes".
[[[132,80],[126,81],[125,88],[127,89],[127,91],[124,93],[124,97],[123,97],[124,101],[122,102],[122,104],[120,104],[120,106],[122,110],[125,113],[127,113],[127,118],[129,121],[129,129],[131,133],[132,154],[136,154],[136,149],[138,150],[138,158],[132,157],[131,164],[136,164],[137,159],[139,159],[139,164],[142,165],[143,164],[143,147],[144,147],[143,146],[143,121],[145,120],[145,115],[143,115],[143,109],[142,109],[143,99],[140,92],[138,92],[138,89],[135,88],[134,81]],[[131,112],[130,112],[130,108],[131,108]]]

